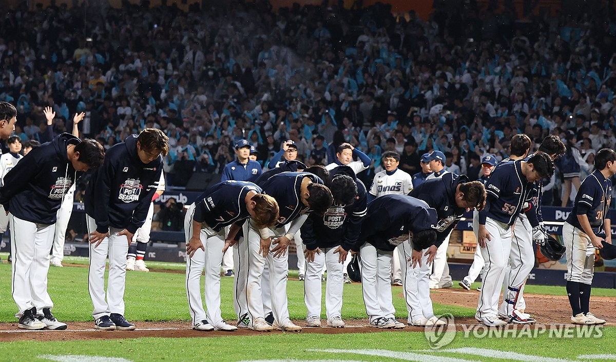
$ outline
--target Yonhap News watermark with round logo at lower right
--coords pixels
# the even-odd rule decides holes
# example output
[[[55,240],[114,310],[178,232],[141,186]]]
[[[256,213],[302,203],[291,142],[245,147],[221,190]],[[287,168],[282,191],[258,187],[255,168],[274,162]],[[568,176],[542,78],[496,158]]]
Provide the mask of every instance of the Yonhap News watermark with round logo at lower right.
[[[455,325],[453,315],[439,316],[446,324],[424,328],[424,336],[432,349],[451,344],[456,338],[601,338],[603,325],[535,324],[518,325],[509,323],[501,327],[488,327],[481,324]],[[456,333],[457,332],[457,333]]]

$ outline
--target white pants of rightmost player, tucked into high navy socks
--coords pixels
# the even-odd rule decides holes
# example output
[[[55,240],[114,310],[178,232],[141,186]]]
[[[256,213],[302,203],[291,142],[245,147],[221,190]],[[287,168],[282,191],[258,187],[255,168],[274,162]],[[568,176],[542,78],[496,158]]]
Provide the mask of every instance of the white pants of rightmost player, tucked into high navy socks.
[[[567,257],[567,281],[592,284],[594,275],[594,246],[583,230],[569,222],[562,226],[562,242]]]

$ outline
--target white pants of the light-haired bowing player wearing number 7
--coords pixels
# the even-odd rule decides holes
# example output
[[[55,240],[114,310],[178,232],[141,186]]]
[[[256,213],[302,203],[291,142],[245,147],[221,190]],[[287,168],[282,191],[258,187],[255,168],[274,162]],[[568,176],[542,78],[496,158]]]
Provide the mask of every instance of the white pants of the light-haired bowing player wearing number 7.
[[[186,243],[192,237],[193,216],[195,204],[190,205],[184,217],[184,236]],[[186,258],[186,294],[188,296],[188,309],[193,325],[202,320],[208,320],[213,325],[222,322],[221,317],[221,262],[222,248],[225,245],[225,229],[219,232],[211,227],[201,229],[199,234],[205,251],[197,249],[192,258]],[[203,310],[201,301],[201,272],[205,268],[205,305]]]

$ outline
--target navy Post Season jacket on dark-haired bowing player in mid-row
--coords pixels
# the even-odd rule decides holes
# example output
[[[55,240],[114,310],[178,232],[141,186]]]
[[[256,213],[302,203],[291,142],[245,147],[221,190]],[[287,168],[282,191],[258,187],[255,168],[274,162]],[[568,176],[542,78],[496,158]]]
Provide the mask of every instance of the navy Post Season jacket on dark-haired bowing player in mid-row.
[[[331,170],[331,176],[337,175],[338,168]],[[324,215],[310,214],[302,225],[302,240],[307,250],[331,248],[340,245],[346,251],[357,243],[366,216],[367,192],[362,181],[355,177],[357,196],[350,205],[332,205]],[[345,173],[345,175],[348,175]],[[351,176],[351,175],[349,175]]]

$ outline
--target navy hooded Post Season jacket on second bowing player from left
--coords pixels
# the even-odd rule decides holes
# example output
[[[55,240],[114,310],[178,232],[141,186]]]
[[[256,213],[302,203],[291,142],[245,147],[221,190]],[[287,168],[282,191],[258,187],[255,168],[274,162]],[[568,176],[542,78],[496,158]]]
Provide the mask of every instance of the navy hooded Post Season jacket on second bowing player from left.
[[[108,149],[84,197],[86,214],[96,221],[97,232],[108,232],[110,226],[136,232],[145,222],[162,171],[161,156],[147,164],[141,162],[137,135]]]

